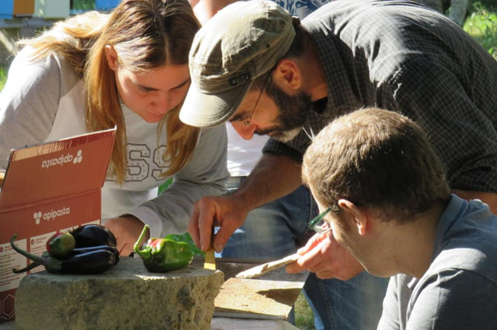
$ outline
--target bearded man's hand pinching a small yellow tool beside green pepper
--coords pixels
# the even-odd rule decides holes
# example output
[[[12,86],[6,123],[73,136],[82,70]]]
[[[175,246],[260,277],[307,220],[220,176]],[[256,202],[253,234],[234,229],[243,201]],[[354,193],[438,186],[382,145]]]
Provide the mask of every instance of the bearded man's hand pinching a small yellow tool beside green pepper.
[[[221,252],[230,236],[243,224],[249,211],[246,203],[234,196],[200,198],[193,206],[188,232],[193,242],[206,251],[211,245],[212,227],[219,226],[213,248]]]

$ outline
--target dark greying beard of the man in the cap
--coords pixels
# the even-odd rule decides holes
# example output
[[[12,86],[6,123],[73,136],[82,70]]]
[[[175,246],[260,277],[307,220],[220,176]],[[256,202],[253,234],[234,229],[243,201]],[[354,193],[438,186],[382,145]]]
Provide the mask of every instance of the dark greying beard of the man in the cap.
[[[311,96],[300,92],[297,95],[287,95],[272,81],[268,81],[266,94],[271,97],[278,107],[277,125],[272,128],[255,131],[258,135],[271,134],[271,137],[282,142],[292,140],[304,126],[309,109],[313,102]]]

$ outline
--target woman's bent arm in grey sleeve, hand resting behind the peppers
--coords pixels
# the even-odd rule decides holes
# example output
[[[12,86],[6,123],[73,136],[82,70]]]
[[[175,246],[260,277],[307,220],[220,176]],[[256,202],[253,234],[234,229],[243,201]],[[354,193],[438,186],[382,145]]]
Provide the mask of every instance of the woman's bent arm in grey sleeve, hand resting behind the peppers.
[[[118,237],[117,248],[121,255],[128,256],[133,251],[144,223],[150,226],[145,242],[150,236],[183,234],[195,201],[225,192],[225,183],[229,178],[227,143],[224,125],[203,129],[192,159],[173,176],[172,184],[161,196],[143,203],[130,214],[105,223]]]

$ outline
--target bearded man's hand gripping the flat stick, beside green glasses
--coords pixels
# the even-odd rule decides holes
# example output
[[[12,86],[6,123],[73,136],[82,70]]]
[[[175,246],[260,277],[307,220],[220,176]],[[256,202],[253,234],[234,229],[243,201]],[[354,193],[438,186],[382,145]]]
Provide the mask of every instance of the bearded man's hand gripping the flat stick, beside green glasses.
[[[331,232],[314,235],[298,253],[303,257],[286,267],[288,273],[309,270],[319,278],[345,281],[364,270],[362,264],[335,241]]]

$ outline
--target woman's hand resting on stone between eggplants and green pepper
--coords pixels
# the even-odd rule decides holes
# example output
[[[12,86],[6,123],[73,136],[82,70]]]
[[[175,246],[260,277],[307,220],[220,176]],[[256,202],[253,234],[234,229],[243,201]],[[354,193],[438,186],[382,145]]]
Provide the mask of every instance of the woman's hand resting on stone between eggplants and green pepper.
[[[117,250],[119,254],[128,257],[133,252],[133,246],[142,233],[144,223],[135,216],[123,216],[115,219],[110,219],[105,222],[107,227],[116,237]],[[144,239],[140,246],[147,242],[150,238],[150,230],[147,230]]]

